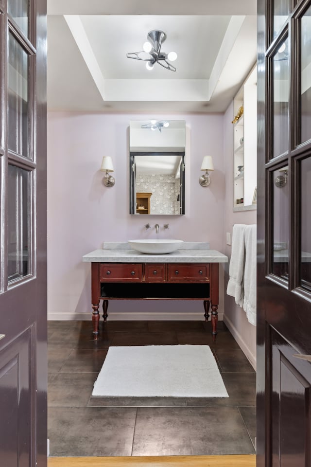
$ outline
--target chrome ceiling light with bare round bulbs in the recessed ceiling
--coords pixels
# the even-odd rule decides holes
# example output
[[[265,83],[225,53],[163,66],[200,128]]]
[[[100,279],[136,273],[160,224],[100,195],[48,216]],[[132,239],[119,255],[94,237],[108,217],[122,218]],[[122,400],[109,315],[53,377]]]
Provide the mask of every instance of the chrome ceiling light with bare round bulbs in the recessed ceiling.
[[[158,63],[167,70],[175,72],[176,68],[173,67],[173,65],[171,65],[167,59],[169,59],[171,62],[176,60],[176,52],[170,52],[169,54],[161,52],[161,45],[162,42],[164,42],[166,39],[166,34],[163,33],[163,31],[157,31],[155,29],[148,33],[147,38],[148,41],[146,41],[142,46],[143,50],[140,52],[129,52],[126,54],[127,58],[135,58],[136,60],[146,61],[147,70],[152,70],[155,66],[155,63]]]

